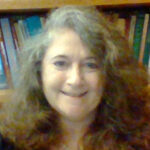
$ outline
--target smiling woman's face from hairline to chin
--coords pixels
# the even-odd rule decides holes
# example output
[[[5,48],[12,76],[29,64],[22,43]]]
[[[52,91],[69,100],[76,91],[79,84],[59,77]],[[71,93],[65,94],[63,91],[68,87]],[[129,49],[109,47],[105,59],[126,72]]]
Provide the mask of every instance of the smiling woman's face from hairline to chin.
[[[42,62],[48,103],[60,117],[85,120],[101,102],[103,82],[97,59],[72,30],[58,33]]]

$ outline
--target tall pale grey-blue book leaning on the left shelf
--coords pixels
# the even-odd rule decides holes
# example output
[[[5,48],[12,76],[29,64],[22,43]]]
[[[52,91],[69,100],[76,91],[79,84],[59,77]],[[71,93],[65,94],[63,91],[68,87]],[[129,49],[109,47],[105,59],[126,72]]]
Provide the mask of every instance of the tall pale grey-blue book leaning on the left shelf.
[[[0,24],[1,24],[1,29],[3,33],[4,44],[6,47],[6,53],[8,56],[8,63],[10,66],[12,83],[14,87],[16,87],[17,80],[19,77],[19,74],[18,74],[19,63],[17,60],[17,52],[16,52],[15,45],[14,45],[9,18],[1,18]]]

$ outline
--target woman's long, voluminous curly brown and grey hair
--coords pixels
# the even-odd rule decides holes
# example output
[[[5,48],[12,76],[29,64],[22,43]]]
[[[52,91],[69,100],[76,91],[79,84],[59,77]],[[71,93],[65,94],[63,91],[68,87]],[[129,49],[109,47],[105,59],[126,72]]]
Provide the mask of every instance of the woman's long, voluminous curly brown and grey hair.
[[[80,148],[148,150],[147,68],[138,65],[126,39],[94,7],[64,6],[54,10],[41,33],[25,45],[16,94],[0,110],[0,133],[22,150],[47,150],[63,143],[57,112],[49,106],[41,81],[43,56],[63,28],[75,31],[98,57],[106,79],[96,118],[81,139]]]

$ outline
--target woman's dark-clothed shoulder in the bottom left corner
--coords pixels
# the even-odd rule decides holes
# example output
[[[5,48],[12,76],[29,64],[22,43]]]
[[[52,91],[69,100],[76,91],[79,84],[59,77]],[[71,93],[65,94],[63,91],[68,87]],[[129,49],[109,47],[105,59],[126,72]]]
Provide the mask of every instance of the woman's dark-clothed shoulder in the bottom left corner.
[[[13,144],[11,144],[7,139],[4,139],[0,134],[0,150],[15,150]]]

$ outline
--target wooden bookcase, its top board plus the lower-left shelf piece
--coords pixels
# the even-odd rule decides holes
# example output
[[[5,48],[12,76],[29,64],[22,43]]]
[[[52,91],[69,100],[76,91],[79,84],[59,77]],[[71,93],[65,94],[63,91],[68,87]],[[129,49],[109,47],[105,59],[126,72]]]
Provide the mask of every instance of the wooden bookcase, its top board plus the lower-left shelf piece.
[[[104,9],[148,8],[150,0],[0,0],[0,14],[20,12],[47,12],[63,5],[97,5]],[[0,90],[0,103],[8,101],[13,89]]]

